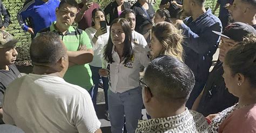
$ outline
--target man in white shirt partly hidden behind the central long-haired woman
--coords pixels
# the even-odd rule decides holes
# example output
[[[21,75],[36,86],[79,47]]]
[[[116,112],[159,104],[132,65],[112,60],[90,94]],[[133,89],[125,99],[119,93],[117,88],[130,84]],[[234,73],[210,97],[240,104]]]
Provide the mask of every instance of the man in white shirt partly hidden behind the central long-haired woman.
[[[145,46],[147,51],[150,51],[149,47],[147,46],[147,41],[145,40],[144,36],[136,31],[134,31],[136,26],[136,15],[132,9],[125,9],[121,14],[120,18],[125,18],[131,26],[132,29],[132,39],[135,44]]]

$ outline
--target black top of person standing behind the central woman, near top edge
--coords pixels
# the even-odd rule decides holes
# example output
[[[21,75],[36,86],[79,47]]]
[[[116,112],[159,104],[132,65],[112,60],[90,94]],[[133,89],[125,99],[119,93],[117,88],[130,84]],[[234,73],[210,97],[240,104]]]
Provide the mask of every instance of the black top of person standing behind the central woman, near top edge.
[[[144,34],[143,29],[145,26],[151,25],[152,24],[152,19],[154,17],[154,9],[153,6],[149,4],[149,9],[146,10],[146,12],[149,14],[149,17],[147,17],[147,14],[145,11],[142,9],[142,5],[139,2],[136,2],[134,5],[132,5],[131,9],[135,12],[136,14],[136,27],[135,31],[137,31],[140,34]]]

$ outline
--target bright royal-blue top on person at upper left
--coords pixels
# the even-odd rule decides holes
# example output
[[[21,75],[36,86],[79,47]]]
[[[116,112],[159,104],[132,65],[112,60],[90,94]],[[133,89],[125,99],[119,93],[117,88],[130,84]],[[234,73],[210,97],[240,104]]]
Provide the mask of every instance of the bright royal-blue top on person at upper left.
[[[27,3],[21,11],[19,11],[17,19],[19,25],[24,31],[28,31],[29,26],[25,24],[25,20],[31,17],[33,20],[34,34],[43,28],[49,27],[53,21],[56,21],[55,10],[59,6],[59,0],[49,0],[44,3],[41,0],[34,0]]]

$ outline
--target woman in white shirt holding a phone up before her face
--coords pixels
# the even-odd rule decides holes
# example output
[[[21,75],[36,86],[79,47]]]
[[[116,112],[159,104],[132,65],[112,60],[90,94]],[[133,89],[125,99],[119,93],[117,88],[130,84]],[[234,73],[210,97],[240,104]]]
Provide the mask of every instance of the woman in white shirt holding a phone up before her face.
[[[107,44],[107,40],[109,40],[109,26],[106,26],[106,29],[100,27],[100,21],[105,21],[105,13],[102,9],[94,9],[92,11],[92,21],[93,26],[86,28],[85,32],[89,36],[91,40],[91,45],[93,47],[93,60],[90,62],[90,68],[92,71],[92,80],[95,87],[91,92],[92,102],[94,107],[96,108],[96,100],[97,100],[97,93],[99,87],[99,69],[102,68],[102,49]],[[103,81],[103,89],[105,93],[105,102],[106,102],[106,114],[108,110],[107,106],[107,90],[109,88],[109,79],[106,77],[102,77]]]

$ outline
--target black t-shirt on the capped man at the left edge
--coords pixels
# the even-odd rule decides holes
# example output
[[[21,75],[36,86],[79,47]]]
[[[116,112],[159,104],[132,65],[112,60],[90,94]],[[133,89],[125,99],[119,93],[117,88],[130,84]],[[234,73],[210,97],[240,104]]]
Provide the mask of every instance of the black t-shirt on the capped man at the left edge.
[[[9,71],[0,70],[0,108],[2,108],[3,94],[6,87],[16,78],[21,77],[15,64],[8,65]]]

